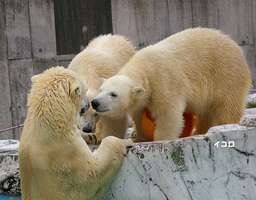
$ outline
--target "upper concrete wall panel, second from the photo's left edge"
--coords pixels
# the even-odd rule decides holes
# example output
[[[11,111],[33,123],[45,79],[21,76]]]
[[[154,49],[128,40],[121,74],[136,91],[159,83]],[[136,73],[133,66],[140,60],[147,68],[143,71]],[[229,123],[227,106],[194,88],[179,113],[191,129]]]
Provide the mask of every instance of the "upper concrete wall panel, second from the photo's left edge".
[[[6,1],[6,30],[9,59],[31,58],[27,0]]]

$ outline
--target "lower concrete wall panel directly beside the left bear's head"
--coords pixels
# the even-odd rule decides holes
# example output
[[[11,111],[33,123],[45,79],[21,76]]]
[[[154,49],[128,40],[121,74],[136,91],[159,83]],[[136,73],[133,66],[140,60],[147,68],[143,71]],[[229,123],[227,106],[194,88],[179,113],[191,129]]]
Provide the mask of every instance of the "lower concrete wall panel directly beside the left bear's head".
[[[13,59],[9,61],[11,110],[13,126],[24,124],[27,117],[27,94],[30,92],[33,76],[32,59]],[[22,127],[14,129],[14,139],[20,139]]]

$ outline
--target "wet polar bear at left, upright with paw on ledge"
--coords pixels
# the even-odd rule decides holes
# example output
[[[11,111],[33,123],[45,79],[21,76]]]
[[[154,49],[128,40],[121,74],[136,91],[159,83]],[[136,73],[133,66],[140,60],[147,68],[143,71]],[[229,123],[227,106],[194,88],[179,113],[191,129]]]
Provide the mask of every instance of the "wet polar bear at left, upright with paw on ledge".
[[[64,67],[32,77],[19,145],[23,200],[96,199],[104,193],[131,139],[106,137],[93,153],[78,129],[86,85]]]

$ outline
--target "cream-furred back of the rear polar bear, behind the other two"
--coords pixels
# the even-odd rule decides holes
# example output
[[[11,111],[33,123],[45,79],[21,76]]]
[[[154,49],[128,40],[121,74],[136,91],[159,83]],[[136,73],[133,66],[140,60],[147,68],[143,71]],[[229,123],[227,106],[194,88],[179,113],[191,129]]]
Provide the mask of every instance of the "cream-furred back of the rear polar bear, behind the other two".
[[[102,84],[101,78],[110,78],[135,54],[134,46],[119,35],[101,35],[90,41],[86,49],[71,61],[68,69],[79,74],[89,90]]]

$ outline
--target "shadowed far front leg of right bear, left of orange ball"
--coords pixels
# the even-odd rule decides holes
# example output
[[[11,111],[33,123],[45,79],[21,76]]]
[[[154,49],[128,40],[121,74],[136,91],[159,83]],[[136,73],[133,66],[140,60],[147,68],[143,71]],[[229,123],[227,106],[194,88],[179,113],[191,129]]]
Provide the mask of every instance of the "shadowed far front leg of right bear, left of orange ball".
[[[131,116],[133,117],[133,121],[136,127],[136,137],[133,142],[147,142],[147,138],[143,133],[142,126],[141,126],[141,118],[142,114],[144,112],[144,109],[139,110],[136,113],[133,113]]]

